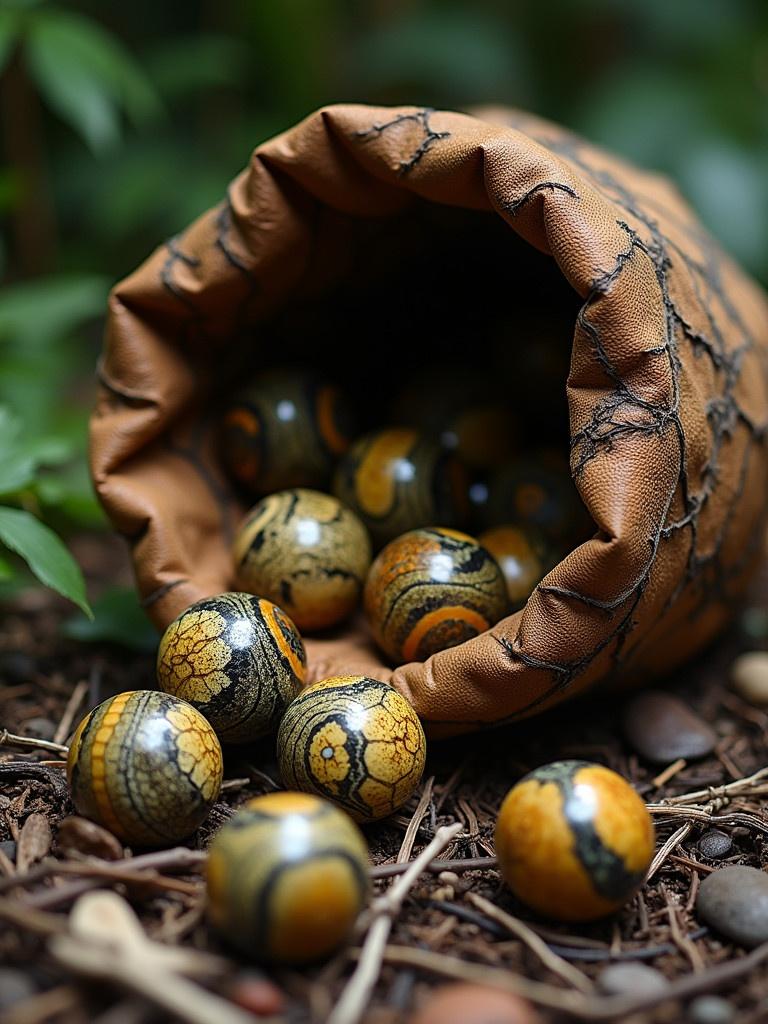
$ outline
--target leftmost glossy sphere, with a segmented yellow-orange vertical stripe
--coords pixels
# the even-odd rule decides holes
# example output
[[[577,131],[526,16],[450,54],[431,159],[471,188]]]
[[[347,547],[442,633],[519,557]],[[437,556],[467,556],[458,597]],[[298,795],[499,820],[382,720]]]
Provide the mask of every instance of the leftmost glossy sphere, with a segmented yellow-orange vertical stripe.
[[[78,814],[137,846],[191,835],[218,798],[222,771],[211,724],[155,690],[103,700],[78,726],[67,759]]]

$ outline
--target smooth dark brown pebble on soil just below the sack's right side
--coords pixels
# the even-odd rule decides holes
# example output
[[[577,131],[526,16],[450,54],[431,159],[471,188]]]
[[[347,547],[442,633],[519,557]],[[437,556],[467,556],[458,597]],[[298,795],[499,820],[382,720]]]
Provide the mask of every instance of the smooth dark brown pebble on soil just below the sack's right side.
[[[702,758],[715,750],[715,731],[671,693],[646,690],[625,708],[624,731],[638,754],[653,764]]]

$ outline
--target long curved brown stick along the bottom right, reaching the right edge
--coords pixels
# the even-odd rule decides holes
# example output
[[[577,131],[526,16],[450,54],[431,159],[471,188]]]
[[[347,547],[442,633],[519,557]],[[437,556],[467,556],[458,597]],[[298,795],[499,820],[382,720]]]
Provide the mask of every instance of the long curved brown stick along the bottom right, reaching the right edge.
[[[403,967],[414,967],[441,977],[468,981],[478,985],[492,985],[515,995],[537,1002],[550,1010],[559,1010],[581,1020],[610,1021],[625,1020],[632,1014],[652,1010],[662,1002],[671,999],[688,999],[702,992],[723,988],[725,985],[738,981],[744,975],[751,974],[757,967],[768,961],[768,942],[753,949],[746,956],[739,959],[726,961],[709,967],[701,974],[687,974],[655,992],[648,992],[636,999],[626,996],[585,996],[580,992],[563,991],[554,985],[528,981],[511,974],[506,968],[493,968],[486,965],[468,964],[446,956],[444,953],[433,953],[427,949],[412,949],[409,946],[387,946],[384,950],[387,964]]]

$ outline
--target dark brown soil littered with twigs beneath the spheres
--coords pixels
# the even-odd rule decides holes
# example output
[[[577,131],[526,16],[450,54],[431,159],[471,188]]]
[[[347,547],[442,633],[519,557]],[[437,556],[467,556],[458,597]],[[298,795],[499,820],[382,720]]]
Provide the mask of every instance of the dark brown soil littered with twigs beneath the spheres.
[[[109,542],[85,539],[79,554],[97,568],[102,580],[105,564],[111,566],[113,578],[125,573],[122,556]],[[0,729],[66,741],[83,713],[97,701],[120,690],[153,686],[152,655],[126,654],[62,639],[59,624],[65,613],[69,612],[58,601],[38,594],[3,611]],[[439,855],[441,860],[456,863],[443,865],[453,876],[426,872],[411,889],[389,938],[389,947],[411,951],[401,954],[403,959],[411,955],[411,962],[385,963],[365,1020],[372,1024],[409,1020],[431,986],[467,965],[486,967],[488,977],[498,982],[518,976],[542,983],[537,989],[541,1013],[551,1024],[574,1019],[565,1009],[567,999],[572,1001],[573,997],[575,1013],[582,1019],[631,1020],[636,1024],[684,1021],[690,996],[713,985],[718,985],[719,994],[731,1002],[737,1024],[768,1020],[768,959],[752,970],[741,970],[745,951],[702,927],[694,911],[697,887],[714,866],[727,862],[761,867],[768,862],[768,816],[759,795],[748,791],[715,806],[714,813],[724,821],[720,827],[733,840],[731,852],[721,861],[708,860],[698,850],[697,841],[707,825],[686,816],[687,803],[666,817],[657,817],[659,848],[682,826],[690,826],[690,831],[667,850],[660,868],[620,914],[595,925],[539,921],[515,903],[493,859],[488,865],[472,865],[478,858],[493,857],[495,816],[507,790],[522,774],[546,762],[582,758],[606,764],[630,779],[649,803],[718,787],[765,767],[768,715],[744,703],[728,688],[727,681],[728,667],[738,650],[766,645],[766,622],[768,571],[763,570],[748,611],[739,614],[729,633],[696,664],[669,680],[675,692],[714,724],[720,737],[714,755],[678,766],[673,773],[643,763],[633,754],[617,724],[626,698],[609,694],[567,706],[522,726],[433,743],[423,786],[411,803],[394,818],[365,830],[374,864],[393,864],[424,786],[433,779],[428,797],[422,801],[423,817],[420,822],[417,817],[412,825],[412,831],[416,824],[418,829],[411,859],[440,825],[461,822],[463,830]],[[58,823],[73,808],[61,768],[44,763],[53,756],[10,746],[0,752],[2,984],[26,983],[28,988],[26,998],[7,1011],[6,1017],[0,1010],[0,1020],[11,1024],[141,1024],[171,1019],[135,992],[111,981],[83,980],[52,957],[49,936],[61,929],[83,888],[94,885],[112,887],[125,896],[151,937],[225,956],[225,965],[214,972],[209,983],[215,992],[242,1004],[248,986],[253,988],[254,982],[268,978],[282,993],[285,1019],[325,1019],[349,977],[352,951],[359,942],[316,968],[262,973],[258,966],[238,959],[206,927],[199,863],[189,866],[181,859],[171,859],[154,873],[147,871],[145,880],[137,880],[130,860],[125,859],[130,851],[122,855],[112,851],[108,855],[119,859],[113,860],[111,877],[94,881],[94,861],[85,856],[87,840],[76,831],[63,843],[57,835]],[[665,775],[669,776],[666,780]],[[271,741],[227,751],[225,779],[220,802],[188,843],[193,850],[204,850],[214,830],[239,804],[279,784]],[[706,805],[707,799],[694,803]],[[739,813],[741,817],[732,816]],[[50,842],[44,828],[43,835],[38,835],[37,826],[28,828],[25,838],[25,822],[34,814],[49,822]],[[41,854],[42,866],[36,865]],[[467,860],[469,863],[464,863]],[[61,868],[62,863],[69,866]],[[61,873],[65,870],[67,873]],[[380,866],[375,874],[387,874],[386,867]],[[390,884],[385,878],[376,883],[381,890]],[[474,901],[477,896],[526,922],[557,954],[554,969],[529,942],[512,934],[503,921],[492,920],[487,908],[478,907]],[[426,954],[438,954],[429,970],[425,969]],[[388,955],[394,955],[391,949]],[[628,1007],[617,1017],[609,1017],[605,997],[590,981],[598,978],[607,964],[618,961],[656,968],[672,980],[671,992],[681,998],[643,1009],[647,993],[640,993],[636,1013],[630,1015]],[[562,970],[563,963],[579,972],[575,982],[571,972]],[[734,970],[730,982],[721,984],[717,966],[726,964]],[[442,977],[435,973],[437,969],[444,972]],[[271,988],[264,991],[280,1001],[280,994]]]

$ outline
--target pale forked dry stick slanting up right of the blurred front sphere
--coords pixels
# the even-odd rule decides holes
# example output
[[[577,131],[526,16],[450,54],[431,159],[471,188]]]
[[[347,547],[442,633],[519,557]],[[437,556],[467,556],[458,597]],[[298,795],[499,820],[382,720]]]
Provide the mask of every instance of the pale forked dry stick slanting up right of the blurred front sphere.
[[[341,993],[341,998],[331,1011],[327,1024],[356,1024],[360,1019],[379,978],[384,949],[395,914],[426,865],[436,854],[444,850],[461,830],[462,825],[458,822],[438,828],[432,842],[422,850],[402,878],[374,902],[371,909],[376,916],[362,943],[357,967]]]

